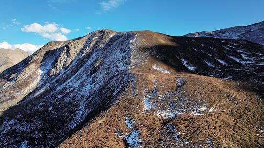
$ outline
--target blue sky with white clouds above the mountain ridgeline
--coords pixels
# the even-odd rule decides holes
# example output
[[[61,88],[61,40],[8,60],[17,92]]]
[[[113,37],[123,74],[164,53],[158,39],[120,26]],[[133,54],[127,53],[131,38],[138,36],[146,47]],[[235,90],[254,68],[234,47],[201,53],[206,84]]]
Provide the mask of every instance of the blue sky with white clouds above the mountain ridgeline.
[[[264,20],[264,0],[1,0],[0,48],[33,52],[94,30],[173,36]]]

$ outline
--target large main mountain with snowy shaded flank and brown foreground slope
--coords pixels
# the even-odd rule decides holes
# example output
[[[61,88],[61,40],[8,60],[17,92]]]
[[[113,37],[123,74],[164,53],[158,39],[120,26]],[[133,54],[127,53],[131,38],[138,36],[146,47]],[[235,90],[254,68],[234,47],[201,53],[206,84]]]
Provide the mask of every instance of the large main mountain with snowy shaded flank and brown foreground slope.
[[[264,46],[98,30],[0,74],[5,148],[264,147]]]

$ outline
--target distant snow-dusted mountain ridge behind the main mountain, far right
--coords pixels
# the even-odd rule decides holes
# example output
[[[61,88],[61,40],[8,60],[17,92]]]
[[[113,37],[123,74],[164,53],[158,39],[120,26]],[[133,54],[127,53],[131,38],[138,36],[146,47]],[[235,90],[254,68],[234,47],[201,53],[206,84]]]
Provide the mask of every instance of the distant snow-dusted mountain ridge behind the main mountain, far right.
[[[248,26],[236,26],[216,31],[202,31],[190,33],[184,36],[245,39],[257,44],[264,45],[264,21]]]

